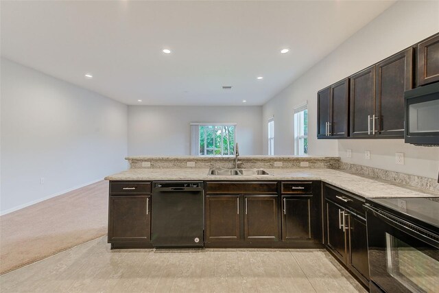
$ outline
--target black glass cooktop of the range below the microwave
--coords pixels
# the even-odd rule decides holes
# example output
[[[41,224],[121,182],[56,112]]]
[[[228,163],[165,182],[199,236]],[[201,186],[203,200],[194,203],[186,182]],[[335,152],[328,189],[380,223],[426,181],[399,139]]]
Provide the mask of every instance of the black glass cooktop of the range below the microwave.
[[[374,207],[439,228],[439,198],[368,198]]]

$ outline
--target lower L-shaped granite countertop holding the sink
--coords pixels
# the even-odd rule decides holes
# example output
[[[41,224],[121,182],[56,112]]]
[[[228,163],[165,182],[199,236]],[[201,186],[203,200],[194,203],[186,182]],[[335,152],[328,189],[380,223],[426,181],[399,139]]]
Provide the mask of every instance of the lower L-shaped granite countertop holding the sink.
[[[128,169],[105,180],[322,180],[364,198],[439,197],[434,191],[359,176],[336,169],[265,169],[271,176],[213,176],[209,169]]]

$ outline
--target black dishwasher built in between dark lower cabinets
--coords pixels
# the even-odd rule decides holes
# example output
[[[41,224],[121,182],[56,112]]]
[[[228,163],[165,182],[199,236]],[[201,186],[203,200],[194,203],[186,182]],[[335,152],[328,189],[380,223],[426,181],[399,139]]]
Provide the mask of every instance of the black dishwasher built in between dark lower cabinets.
[[[155,248],[204,246],[202,182],[154,182],[151,242]]]

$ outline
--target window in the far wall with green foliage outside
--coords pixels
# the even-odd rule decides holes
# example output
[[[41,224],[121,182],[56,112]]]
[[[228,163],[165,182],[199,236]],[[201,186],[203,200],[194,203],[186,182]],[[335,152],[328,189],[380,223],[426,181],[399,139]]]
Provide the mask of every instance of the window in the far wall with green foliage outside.
[[[235,153],[236,124],[191,124],[195,156],[227,156]]]

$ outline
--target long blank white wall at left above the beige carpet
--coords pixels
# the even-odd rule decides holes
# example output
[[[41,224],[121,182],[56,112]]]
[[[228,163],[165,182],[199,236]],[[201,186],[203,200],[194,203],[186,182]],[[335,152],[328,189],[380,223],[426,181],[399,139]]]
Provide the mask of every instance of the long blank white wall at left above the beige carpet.
[[[1,213],[126,169],[127,114],[126,105],[2,58]]]

